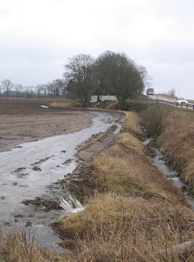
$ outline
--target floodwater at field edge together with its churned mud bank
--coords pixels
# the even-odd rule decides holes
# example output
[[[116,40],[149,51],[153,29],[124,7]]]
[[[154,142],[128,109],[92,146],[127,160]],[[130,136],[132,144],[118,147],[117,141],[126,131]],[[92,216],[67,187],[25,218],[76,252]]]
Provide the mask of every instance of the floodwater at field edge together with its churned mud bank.
[[[10,184],[12,192],[13,189],[16,189],[15,192],[19,196],[17,198],[14,193],[12,194],[8,212],[3,212],[1,208],[1,224],[5,224],[6,226],[10,226],[11,224],[24,225],[26,232],[29,232],[30,235],[36,230],[39,235],[39,244],[43,244],[57,252],[65,252],[63,248],[54,244],[60,242],[61,239],[54,234],[49,224],[56,219],[60,219],[60,217],[62,218],[72,212],[80,212],[83,209],[82,204],[77,198],[79,196],[77,191],[79,186],[77,184],[80,182],[76,176],[76,172],[78,171],[75,170],[75,173],[73,173],[73,170],[76,169],[76,166],[84,170],[86,166],[90,165],[91,157],[109,145],[119,132],[121,121],[124,117],[120,113],[92,113],[94,114],[92,119],[93,124],[89,128],[67,135],[49,137],[21,144],[9,152],[0,153],[3,160],[1,170],[2,173],[6,170],[5,173],[7,174],[4,173],[4,176],[1,177],[5,179],[2,183],[5,193],[1,190],[0,199],[2,207],[6,207],[9,199],[6,195],[6,192],[9,192],[9,189],[6,190],[6,184]],[[99,123],[101,124],[99,125]],[[84,132],[86,136],[83,135]],[[74,138],[75,134],[77,134],[79,139]],[[65,137],[68,137],[66,141],[70,144],[69,146],[64,144]],[[52,139],[55,139],[53,144],[51,142]],[[58,139],[60,142],[58,142]],[[73,142],[75,141],[75,145],[69,139],[72,139]],[[46,142],[49,148],[57,145],[57,151],[56,149],[52,151],[48,147],[45,148],[42,146],[42,142]],[[41,150],[38,153],[37,150],[40,147]],[[23,159],[22,151],[25,152]],[[15,166],[9,167],[9,170],[7,170],[8,162],[12,163],[13,160],[8,158],[13,160],[14,158],[19,159],[19,161],[16,161]],[[52,173],[48,172],[49,169],[52,170]],[[52,178],[53,172],[55,176]],[[51,174],[50,178],[52,179],[48,179],[48,174]],[[31,199],[27,200],[28,197],[26,197],[25,200],[24,192],[18,190],[18,188],[29,189],[31,184],[33,185],[33,189],[34,179],[36,180],[37,177],[40,179],[42,175],[43,177],[46,176],[47,180],[42,181],[43,183],[39,180],[37,189],[35,187],[35,192],[31,194]],[[34,179],[31,180],[30,178],[33,176]],[[38,192],[41,192],[41,194]],[[33,195],[35,196],[34,200]]]

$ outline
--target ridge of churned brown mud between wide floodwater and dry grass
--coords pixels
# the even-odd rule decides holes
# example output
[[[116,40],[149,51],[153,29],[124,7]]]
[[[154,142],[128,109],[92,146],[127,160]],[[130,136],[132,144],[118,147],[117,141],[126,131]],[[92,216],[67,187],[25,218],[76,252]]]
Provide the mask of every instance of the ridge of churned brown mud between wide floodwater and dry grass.
[[[123,117],[123,115],[121,114],[120,117]],[[112,125],[105,133],[95,134],[83,145],[79,146],[77,148],[79,165],[73,173],[69,173],[64,179],[50,185],[50,194],[48,196],[36,197],[34,200],[26,199],[22,203],[26,205],[33,204],[42,211],[49,212],[52,209],[63,209],[60,206],[61,202],[58,196],[66,198],[70,193],[82,202],[85,196],[85,183],[88,183],[88,175],[93,171],[91,166],[93,156],[115,141],[116,137],[113,132],[116,128],[116,125]],[[63,164],[69,165],[70,162],[71,159],[68,159]]]

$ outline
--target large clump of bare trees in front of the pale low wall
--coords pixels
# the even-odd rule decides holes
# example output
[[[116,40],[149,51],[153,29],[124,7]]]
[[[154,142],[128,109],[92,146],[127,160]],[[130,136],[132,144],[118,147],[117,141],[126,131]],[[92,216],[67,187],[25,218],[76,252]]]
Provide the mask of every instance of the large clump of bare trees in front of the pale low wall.
[[[96,59],[90,54],[77,54],[68,59],[63,73],[69,97],[80,98],[87,105],[92,94],[100,101],[102,94],[114,94],[121,110],[128,98],[143,94],[151,85],[146,68],[125,53],[105,51]]]

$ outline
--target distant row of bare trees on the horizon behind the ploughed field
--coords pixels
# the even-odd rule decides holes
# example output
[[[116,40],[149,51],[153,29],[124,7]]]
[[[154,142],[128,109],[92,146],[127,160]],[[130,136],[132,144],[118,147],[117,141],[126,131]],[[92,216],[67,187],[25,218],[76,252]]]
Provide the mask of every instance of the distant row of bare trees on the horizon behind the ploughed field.
[[[65,82],[62,79],[55,79],[47,84],[27,86],[21,84],[14,84],[11,80],[5,79],[0,85],[0,96],[5,95],[15,97],[32,97],[32,96],[51,96],[58,97],[64,96],[66,92]]]

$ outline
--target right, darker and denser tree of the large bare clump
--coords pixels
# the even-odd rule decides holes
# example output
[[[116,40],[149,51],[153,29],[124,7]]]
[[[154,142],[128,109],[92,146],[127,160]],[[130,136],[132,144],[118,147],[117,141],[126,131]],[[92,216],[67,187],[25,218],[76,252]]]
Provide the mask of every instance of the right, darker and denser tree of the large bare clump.
[[[105,51],[98,59],[104,65],[111,93],[115,93],[120,109],[126,109],[127,99],[143,93],[150,81],[145,67],[138,65],[124,53]]]

